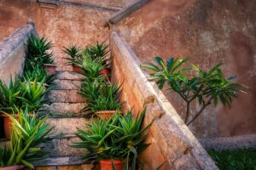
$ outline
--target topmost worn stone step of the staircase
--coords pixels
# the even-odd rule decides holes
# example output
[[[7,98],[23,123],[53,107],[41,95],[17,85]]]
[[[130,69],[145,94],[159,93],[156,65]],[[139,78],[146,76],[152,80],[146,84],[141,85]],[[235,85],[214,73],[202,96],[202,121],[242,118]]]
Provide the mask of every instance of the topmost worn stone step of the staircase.
[[[56,71],[55,79],[59,80],[82,80],[83,75],[73,71]]]

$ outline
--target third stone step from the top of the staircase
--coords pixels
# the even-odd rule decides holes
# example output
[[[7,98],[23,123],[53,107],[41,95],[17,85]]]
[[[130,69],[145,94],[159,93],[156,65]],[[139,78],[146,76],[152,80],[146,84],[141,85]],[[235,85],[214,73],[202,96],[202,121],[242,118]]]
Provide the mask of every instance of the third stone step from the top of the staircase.
[[[51,90],[45,97],[50,103],[84,103],[84,97],[78,92],[79,90]]]

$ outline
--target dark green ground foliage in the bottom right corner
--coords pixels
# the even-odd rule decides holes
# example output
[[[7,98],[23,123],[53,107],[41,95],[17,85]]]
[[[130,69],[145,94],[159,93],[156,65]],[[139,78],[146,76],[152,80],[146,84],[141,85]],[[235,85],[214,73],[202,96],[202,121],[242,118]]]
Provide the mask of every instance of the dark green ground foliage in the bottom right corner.
[[[256,170],[256,150],[208,151],[220,170]]]

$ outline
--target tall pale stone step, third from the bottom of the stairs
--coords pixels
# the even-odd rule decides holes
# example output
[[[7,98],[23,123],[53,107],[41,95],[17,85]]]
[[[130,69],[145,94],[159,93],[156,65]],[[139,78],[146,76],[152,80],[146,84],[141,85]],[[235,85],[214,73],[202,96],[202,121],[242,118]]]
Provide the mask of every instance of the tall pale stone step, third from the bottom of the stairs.
[[[86,124],[90,123],[89,118],[48,118],[46,122],[50,127],[55,127],[49,136],[61,136],[67,134],[74,134],[77,128],[84,128]]]

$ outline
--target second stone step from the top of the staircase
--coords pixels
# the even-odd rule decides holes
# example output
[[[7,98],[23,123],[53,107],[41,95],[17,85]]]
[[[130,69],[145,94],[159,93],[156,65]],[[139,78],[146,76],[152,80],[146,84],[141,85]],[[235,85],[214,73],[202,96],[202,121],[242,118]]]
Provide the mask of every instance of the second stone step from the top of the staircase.
[[[55,84],[54,90],[79,90],[81,81],[55,79],[53,83]]]

